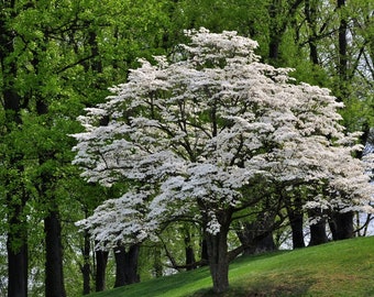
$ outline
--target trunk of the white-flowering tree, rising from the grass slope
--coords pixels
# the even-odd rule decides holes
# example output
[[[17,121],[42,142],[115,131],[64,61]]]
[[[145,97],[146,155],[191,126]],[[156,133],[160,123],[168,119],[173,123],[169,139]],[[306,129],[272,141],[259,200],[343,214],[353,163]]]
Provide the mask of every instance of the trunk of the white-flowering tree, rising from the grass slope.
[[[221,294],[229,288],[229,252],[228,252],[228,232],[231,222],[231,216],[227,212],[220,213],[219,217],[220,232],[211,234],[206,231],[208,262],[210,275],[213,283],[213,292]]]

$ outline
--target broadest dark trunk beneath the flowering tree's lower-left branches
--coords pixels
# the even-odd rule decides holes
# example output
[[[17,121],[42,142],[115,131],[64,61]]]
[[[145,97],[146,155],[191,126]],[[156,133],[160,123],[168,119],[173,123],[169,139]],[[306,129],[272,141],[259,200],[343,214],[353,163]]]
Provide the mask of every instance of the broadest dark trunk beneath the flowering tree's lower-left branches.
[[[116,258],[116,283],[114,287],[121,287],[139,283],[138,260],[140,244],[131,245],[129,251],[124,246],[114,249]]]

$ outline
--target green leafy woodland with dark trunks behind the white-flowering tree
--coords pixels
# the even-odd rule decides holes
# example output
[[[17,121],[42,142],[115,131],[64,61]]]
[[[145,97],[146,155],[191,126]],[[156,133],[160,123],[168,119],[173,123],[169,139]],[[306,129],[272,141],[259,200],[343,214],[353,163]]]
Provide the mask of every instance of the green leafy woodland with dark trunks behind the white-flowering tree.
[[[344,127],[362,131],[364,152],[373,150],[373,0],[3,0],[0,9],[2,296],[80,296],[123,284],[116,263],[130,251],[94,252],[89,234],[74,224],[121,189],[79,177],[68,135],[81,131],[76,118],[84,108],[127,80],[136,57],[173,55],[184,29],[234,30],[257,41],[264,63],[330,88],[345,105]],[[344,220],[353,224],[353,217]],[[327,240],[324,227],[311,243]],[[272,231],[276,248],[290,228]],[[173,245],[167,232],[164,242],[141,248],[141,279],[183,265],[191,249],[199,257],[196,230],[182,228]]]

